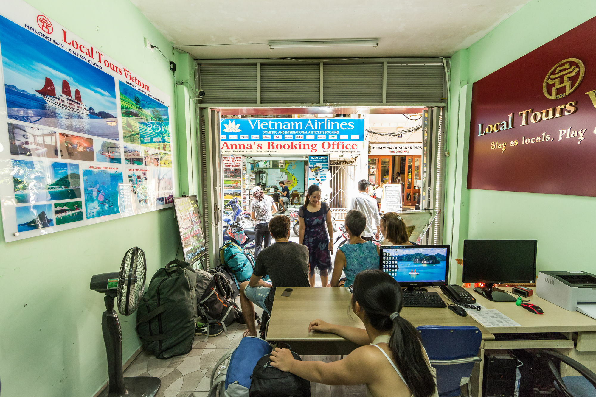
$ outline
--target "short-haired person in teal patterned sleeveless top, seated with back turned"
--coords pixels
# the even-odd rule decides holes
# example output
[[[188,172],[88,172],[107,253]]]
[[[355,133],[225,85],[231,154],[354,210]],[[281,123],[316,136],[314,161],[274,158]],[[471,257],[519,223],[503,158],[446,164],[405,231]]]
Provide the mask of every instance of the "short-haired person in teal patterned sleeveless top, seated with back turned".
[[[359,210],[349,210],[344,221],[349,243],[339,247],[333,264],[331,287],[340,286],[342,271],[346,274],[346,283],[351,286],[354,277],[365,269],[378,269],[377,244],[364,240],[360,235],[367,225],[367,218]]]

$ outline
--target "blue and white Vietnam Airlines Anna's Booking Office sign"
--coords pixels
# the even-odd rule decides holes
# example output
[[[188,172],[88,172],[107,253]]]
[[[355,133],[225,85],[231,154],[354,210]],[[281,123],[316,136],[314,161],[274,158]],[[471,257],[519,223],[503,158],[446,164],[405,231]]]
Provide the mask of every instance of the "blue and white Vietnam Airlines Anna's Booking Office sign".
[[[226,154],[360,153],[364,119],[221,119]]]

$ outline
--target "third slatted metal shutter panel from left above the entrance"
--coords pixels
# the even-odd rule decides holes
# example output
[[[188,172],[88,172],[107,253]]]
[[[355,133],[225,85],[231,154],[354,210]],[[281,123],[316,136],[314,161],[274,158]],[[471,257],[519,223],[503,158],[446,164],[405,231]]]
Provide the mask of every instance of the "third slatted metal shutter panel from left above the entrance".
[[[324,103],[380,103],[382,100],[382,63],[325,65]]]

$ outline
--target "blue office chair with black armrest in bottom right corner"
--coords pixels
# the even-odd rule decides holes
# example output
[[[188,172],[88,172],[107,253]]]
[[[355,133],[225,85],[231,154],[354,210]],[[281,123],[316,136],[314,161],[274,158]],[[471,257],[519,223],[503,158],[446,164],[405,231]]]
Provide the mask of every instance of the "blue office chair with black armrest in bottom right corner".
[[[555,388],[560,396],[563,397],[593,397],[596,396],[596,374],[588,370],[573,358],[562,355],[559,352],[551,350],[542,350],[541,354],[560,359],[565,364],[578,371],[581,376],[564,376],[552,360],[548,360],[548,367],[551,368],[552,375],[555,377]]]

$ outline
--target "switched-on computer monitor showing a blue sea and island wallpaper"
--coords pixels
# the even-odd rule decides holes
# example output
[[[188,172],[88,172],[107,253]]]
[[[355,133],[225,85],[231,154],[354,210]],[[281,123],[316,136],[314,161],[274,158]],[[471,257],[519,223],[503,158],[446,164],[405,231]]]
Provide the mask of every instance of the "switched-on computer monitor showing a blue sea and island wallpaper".
[[[449,277],[449,246],[381,246],[379,268],[408,290],[440,286]]]

